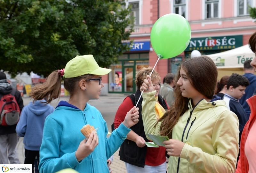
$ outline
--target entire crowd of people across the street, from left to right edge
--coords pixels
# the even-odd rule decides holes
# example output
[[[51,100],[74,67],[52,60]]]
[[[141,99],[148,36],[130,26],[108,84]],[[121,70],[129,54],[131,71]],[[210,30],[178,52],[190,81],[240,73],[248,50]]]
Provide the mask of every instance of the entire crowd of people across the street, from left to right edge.
[[[256,32],[249,45],[256,53]],[[99,110],[88,104],[99,99],[102,75],[111,71],[100,68],[92,55],[76,56],[65,69],[53,71],[32,88],[33,101],[25,107],[0,72],[0,163],[20,163],[16,145],[24,137],[24,163],[41,173],[111,172],[119,147],[128,173],[256,172],[255,68],[256,58],[247,60],[244,75],[218,81],[211,58],[192,57],[175,75],[168,73],[161,86],[159,73],[144,67],[136,75],[138,90],[116,112],[111,134]],[[54,110],[49,103],[60,96],[62,79],[70,98]],[[86,124],[97,128],[89,138],[80,132]],[[170,140],[165,147],[147,147],[152,139],[146,134]]]

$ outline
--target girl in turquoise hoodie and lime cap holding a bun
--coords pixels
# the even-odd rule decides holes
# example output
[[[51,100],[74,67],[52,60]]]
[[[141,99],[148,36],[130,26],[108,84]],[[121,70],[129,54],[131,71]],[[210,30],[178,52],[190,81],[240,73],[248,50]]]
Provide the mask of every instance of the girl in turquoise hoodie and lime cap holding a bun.
[[[47,97],[46,103],[60,96],[61,77],[69,92],[68,102],[60,101],[55,111],[44,123],[43,141],[40,148],[40,173],[57,172],[72,168],[83,172],[109,173],[107,159],[113,155],[126,139],[130,127],[139,120],[138,108],[133,107],[124,122],[107,138],[106,121],[99,110],[89,105],[91,99],[99,99],[102,75],[111,69],[100,68],[92,55],[76,56],[65,69],[53,71],[46,82],[34,86],[30,95],[33,100]],[[88,139],[80,129],[90,124],[99,128]]]

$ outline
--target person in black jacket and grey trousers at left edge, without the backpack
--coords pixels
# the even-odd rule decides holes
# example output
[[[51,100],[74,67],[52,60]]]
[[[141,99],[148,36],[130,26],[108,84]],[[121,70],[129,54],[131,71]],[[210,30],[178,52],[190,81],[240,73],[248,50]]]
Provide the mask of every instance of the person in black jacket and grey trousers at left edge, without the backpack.
[[[14,93],[13,96],[15,96],[21,112],[24,105],[20,92],[12,88],[6,79],[5,73],[0,71],[0,95],[4,96],[12,93]],[[2,105],[0,105],[0,107],[2,107]],[[16,148],[18,143],[18,135],[15,131],[16,125],[17,124],[3,126],[0,124],[0,164],[8,164],[8,159],[10,164],[20,164]]]

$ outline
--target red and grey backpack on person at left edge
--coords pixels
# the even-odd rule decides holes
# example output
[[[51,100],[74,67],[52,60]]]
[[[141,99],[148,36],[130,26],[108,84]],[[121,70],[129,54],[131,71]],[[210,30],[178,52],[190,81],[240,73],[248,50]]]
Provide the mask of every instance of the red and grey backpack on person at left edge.
[[[20,120],[20,108],[15,99],[16,89],[10,94],[0,94],[0,125],[14,125]]]

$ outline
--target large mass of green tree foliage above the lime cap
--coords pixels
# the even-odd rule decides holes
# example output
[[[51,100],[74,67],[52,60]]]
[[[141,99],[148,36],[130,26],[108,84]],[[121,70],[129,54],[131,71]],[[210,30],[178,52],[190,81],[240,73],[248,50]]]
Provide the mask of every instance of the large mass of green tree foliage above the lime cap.
[[[0,69],[49,75],[76,55],[101,67],[130,48],[131,9],[120,0],[0,0]],[[130,29],[126,29],[130,26]]]

